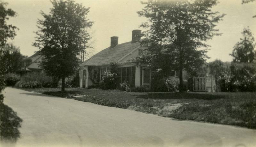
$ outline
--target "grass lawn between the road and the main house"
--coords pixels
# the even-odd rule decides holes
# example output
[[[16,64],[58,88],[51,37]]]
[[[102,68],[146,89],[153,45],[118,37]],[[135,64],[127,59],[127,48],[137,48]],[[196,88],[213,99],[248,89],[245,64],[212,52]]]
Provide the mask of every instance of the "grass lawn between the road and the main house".
[[[172,117],[178,120],[206,121],[256,129],[256,93],[252,92],[124,92],[119,90],[78,89],[25,89],[59,97],[92,102]]]

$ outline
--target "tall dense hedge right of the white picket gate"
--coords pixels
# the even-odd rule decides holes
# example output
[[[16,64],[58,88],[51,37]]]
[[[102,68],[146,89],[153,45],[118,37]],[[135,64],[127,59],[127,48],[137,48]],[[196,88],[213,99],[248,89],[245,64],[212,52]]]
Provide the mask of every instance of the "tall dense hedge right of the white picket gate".
[[[210,63],[210,74],[215,77],[219,92],[255,92],[255,63]]]

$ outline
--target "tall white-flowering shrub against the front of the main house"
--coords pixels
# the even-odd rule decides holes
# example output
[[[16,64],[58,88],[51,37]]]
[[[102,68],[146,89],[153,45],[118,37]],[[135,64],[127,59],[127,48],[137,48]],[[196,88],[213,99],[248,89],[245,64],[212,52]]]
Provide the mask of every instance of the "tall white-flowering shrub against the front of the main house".
[[[111,73],[110,71],[105,72],[102,82],[101,85],[103,86],[103,89],[116,89],[117,73]]]

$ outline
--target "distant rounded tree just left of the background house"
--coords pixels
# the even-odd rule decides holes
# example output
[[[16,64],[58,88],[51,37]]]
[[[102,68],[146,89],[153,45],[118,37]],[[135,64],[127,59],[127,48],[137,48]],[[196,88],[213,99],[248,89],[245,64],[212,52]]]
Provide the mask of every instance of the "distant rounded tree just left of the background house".
[[[13,44],[6,44],[0,47],[3,51],[3,60],[8,68],[7,72],[14,73],[22,67],[22,60],[26,57],[20,53],[20,49]]]

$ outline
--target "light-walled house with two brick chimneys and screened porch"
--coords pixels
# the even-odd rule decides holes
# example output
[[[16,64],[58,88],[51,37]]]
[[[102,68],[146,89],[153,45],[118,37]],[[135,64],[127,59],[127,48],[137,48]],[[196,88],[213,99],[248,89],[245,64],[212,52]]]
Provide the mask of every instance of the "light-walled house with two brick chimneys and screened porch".
[[[150,88],[151,71],[147,65],[136,65],[129,62],[129,59],[142,54],[147,49],[147,47],[140,45],[140,37],[141,30],[133,30],[132,40],[122,44],[118,44],[117,36],[111,37],[110,47],[80,64],[80,88],[88,88],[88,86],[95,84],[92,77],[99,78],[99,81],[102,80],[104,72],[109,70],[111,62],[118,64],[119,83],[127,82],[132,87],[145,86]],[[98,73],[94,72],[96,70]],[[174,71],[173,74],[176,75],[176,72]]]

